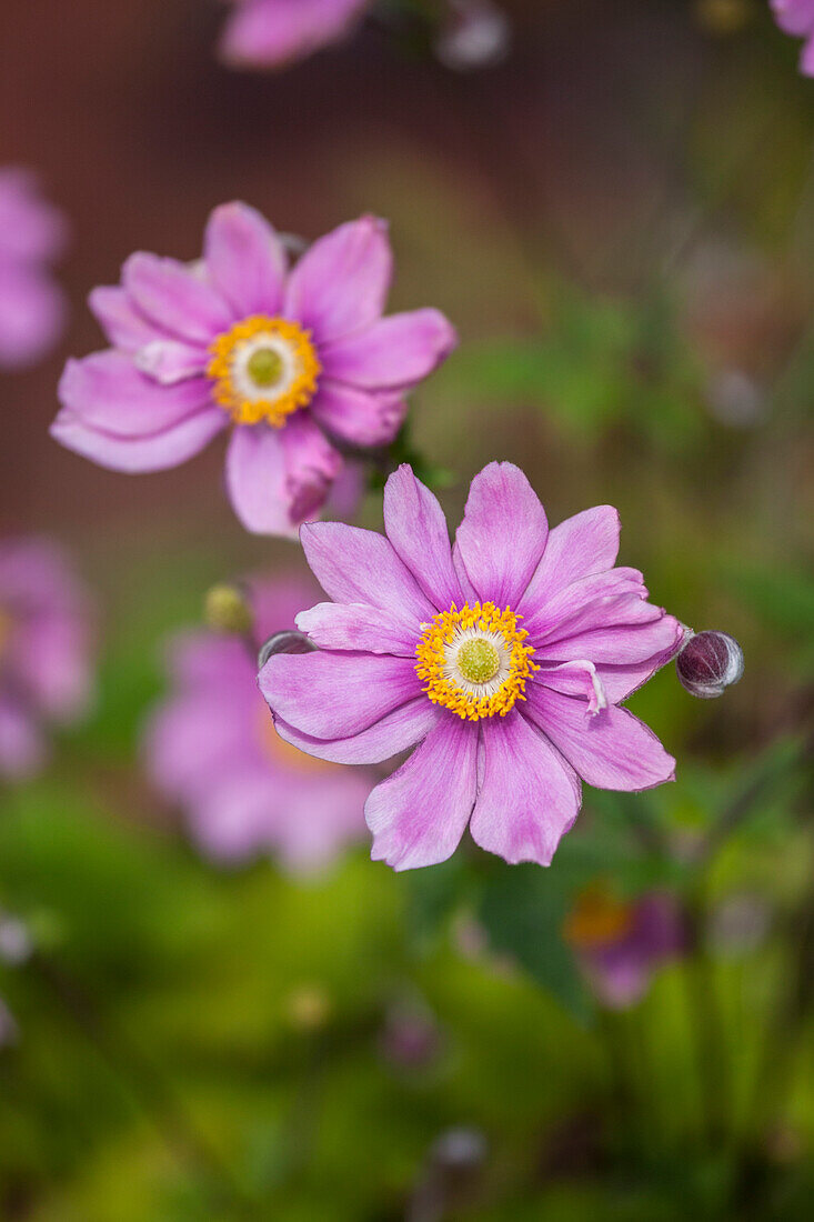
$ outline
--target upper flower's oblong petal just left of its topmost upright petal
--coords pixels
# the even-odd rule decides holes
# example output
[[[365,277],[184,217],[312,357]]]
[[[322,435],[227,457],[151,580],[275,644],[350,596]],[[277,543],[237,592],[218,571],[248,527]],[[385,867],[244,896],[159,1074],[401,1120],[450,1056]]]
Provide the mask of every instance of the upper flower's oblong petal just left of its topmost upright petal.
[[[177,259],[131,254],[121,277],[137,309],[171,336],[208,345],[235,323],[220,293]]]

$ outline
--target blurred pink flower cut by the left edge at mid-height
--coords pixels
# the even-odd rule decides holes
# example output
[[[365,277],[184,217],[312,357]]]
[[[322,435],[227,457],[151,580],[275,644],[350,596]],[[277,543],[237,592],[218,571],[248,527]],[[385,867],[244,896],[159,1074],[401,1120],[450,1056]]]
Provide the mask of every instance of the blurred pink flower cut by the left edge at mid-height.
[[[0,776],[48,755],[45,726],[86,711],[92,692],[87,594],[55,544],[0,541]]]

